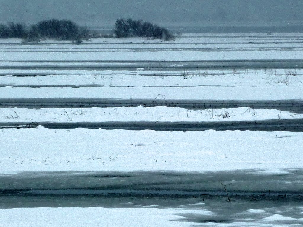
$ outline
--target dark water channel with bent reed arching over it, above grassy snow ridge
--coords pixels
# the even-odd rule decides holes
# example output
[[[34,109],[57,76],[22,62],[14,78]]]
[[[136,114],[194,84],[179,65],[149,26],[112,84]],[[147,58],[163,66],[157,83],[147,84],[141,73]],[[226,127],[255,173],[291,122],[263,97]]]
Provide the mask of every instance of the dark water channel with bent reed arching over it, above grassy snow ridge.
[[[123,98],[13,98],[0,99],[1,108],[181,107],[192,110],[250,107],[303,113],[302,100],[168,100]]]

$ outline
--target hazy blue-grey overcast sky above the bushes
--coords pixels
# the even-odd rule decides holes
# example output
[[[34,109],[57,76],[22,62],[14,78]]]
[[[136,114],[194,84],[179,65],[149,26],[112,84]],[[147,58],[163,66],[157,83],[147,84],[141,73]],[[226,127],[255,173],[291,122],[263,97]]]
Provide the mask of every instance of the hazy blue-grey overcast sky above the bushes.
[[[71,19],[113,25],[118,18],[159,25],[302,24],[303,0],[0,0],[0,22]]]

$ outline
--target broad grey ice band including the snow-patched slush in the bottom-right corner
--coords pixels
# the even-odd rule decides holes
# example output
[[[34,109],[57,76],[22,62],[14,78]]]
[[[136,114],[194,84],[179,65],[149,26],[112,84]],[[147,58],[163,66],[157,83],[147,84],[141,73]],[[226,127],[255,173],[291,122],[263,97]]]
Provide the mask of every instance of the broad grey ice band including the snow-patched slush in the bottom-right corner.
[[[0,188],[1,209],[173,208],[186,210],[178,214],[178,221],[203,226],[303,225],[302,169],[279,173],[24,172],[1,175]]]

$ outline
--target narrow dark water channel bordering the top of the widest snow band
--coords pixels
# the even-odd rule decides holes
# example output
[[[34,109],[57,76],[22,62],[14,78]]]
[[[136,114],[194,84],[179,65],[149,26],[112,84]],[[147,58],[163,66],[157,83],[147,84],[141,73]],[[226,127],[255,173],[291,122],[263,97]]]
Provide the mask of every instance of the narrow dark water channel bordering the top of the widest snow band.
[[[0,128],[49,129],[107,129],[107,130],[155,130],[155,131],[205,131],[205,130],[251,130],[303,132],[303,119],[264,121],[218,121],[218,122],[17,122],[0,123]]]

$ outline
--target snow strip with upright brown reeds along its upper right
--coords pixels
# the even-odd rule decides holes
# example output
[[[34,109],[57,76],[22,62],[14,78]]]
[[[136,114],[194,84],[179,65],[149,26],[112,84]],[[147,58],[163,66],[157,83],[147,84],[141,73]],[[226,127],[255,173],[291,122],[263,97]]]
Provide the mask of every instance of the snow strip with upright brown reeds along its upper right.
[[[1,86],[18,87],[286,87],[302,84],[303,71],[288,70],[1,70]],[[32,75],[24,77],[10,76]],[[45,75],[46,74],[46,75]],[[40,75],[40,76],[39,76]]]

